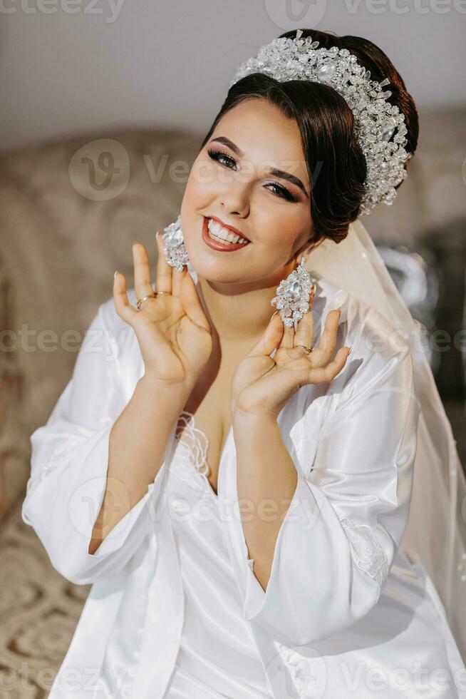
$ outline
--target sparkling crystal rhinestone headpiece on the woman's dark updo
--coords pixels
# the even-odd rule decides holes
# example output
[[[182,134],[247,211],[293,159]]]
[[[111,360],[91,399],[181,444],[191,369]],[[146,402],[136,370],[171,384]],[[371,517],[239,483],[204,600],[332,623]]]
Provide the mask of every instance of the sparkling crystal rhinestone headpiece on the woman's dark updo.
[[[408,143],[405,117],[397,106],[388,103],[391,92],[383,91],[390,81],[370,80],[371,71],[366,71],[348,49],[318,49],[319,41],[312,41],[311,36],[301,39],[302,34],[298,29],[294,39],[281,37],[261,46],[257,56],[239,66],[230,87],[250,73],[266,73],[279,81],[310,80],[333,87],[353,111],[356,139],[366,157],[361,213],[371,213],[381,201],[392,204],[395,185],[408,175],[404,162],[411,153],[404,148]]]

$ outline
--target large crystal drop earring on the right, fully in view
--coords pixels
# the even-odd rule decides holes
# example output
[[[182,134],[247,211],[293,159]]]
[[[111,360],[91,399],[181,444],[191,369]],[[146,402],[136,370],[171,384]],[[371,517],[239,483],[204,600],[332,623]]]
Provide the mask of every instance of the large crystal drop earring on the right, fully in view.
[[[293,270],[286,279],[281,280],[276,287],[276,296],[270,302],[279,310],[279,316],[285,327],[293,327],[295,322],[301,320],[304,313],[309,310],[309,300],[316,293],[316,285],[304,267],[305,261],[304,256],[301,257],[296,270]]]

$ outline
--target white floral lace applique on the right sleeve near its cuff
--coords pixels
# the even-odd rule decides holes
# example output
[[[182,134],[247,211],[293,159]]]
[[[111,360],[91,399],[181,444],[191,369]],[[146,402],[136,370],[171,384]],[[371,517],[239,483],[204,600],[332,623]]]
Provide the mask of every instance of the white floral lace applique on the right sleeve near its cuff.
[[[373,529],[368,524],[353,524],[346,517],[341,520],[341,524],[353,547],[356,565],[382,587],[388,577],[388,560]]]

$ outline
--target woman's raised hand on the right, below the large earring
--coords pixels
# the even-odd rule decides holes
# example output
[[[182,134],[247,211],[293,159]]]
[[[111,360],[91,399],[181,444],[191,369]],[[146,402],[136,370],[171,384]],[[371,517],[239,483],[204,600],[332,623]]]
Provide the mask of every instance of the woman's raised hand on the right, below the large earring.
[[[231,412],[274,418],[291,396],[306,384],[331,381],[343,369],[350,347],[341,347],[333,357],[340,309],[328,312],[319,347],[312,346],[314,323],[312,303],[294,327],[285,327],[279,313],[272,315],[261,340],[242,360],[232,379]],[[277,350],[274,357],[269,354]]]

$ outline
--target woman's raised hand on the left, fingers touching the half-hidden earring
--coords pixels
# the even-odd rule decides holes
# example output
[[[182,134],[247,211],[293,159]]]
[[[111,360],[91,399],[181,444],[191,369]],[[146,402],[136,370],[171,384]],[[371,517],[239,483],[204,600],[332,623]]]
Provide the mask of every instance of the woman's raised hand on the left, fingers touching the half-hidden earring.
[[[181,387],[189,395],[212,351],[212,331],[195,282],[186,265],[178,272],[165,260],[162,233],[157,233],[155,290],[166,292],[130,305],[125,277],[113,282],[115,310],[135,331],[145,364],[145,376],[167,387]],[[152,294],[150,265],[142,243],[133,245],[135,292],[138,299]]]

